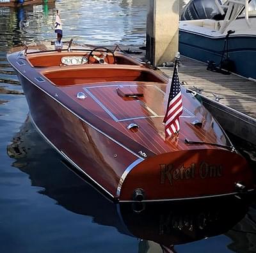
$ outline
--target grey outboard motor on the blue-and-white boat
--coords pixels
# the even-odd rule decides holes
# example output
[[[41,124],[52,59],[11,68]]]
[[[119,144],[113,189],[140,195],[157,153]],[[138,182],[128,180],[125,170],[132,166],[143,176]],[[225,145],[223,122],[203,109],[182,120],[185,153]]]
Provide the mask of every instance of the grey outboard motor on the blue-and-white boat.
[[[221,0],[218,0],[221,4]],[[191,19],[216,19],[223,20],[220,10],[215,4],[214,0],[191,0],[184,7],[180,20]]]

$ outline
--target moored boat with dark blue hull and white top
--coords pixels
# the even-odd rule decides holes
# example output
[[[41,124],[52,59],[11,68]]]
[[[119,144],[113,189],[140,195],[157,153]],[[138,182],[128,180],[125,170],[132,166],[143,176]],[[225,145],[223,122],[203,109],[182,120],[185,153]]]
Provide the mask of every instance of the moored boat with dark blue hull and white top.
[[[213,1],[209,2],[212,4]],[[223,20],[180,21],[180,54],[210,63],[210,70],[223,69],[256,80],[255,63],[252,61],[256,56],[256,1],[215,3]]]

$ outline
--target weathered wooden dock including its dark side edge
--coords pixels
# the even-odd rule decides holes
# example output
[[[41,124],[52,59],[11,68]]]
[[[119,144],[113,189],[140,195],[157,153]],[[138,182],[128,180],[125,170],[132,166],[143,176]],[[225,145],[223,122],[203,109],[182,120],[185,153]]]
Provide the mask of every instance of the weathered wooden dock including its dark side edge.
[[[180,57],[179,79],[200,94],[203,104],[231,134],[256,143],[256,82],[207,70],[207,64]],[[160,68],[172,77],[173,68]]]

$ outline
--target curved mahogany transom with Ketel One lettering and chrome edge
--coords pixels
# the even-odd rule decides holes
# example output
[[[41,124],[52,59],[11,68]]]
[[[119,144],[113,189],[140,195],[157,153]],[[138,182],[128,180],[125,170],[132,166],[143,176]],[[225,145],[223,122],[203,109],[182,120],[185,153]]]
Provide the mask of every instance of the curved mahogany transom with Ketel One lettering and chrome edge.
[[[147,158],[127,168],[120,201],[165,201],[232,195],[252,190],[253,175],[241,155],[228,150],[187,150]]]

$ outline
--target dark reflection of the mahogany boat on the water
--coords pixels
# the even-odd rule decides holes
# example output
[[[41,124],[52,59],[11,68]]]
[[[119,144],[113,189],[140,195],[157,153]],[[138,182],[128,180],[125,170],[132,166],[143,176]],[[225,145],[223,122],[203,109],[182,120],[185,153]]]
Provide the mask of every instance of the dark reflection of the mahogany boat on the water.
[[[93,217],[97,224],[139,238],[139,252],[152,248],[154,252],[175,252],[174,245],[226,233],[244,217],[248,207],[236,197],[113,203],[61,163],[60,155],[37,134],[29,118],[7,151],[16,159],[13,166],[29,174],[33,186],[44,187],[40,194],[55,199],[67,210]]]

